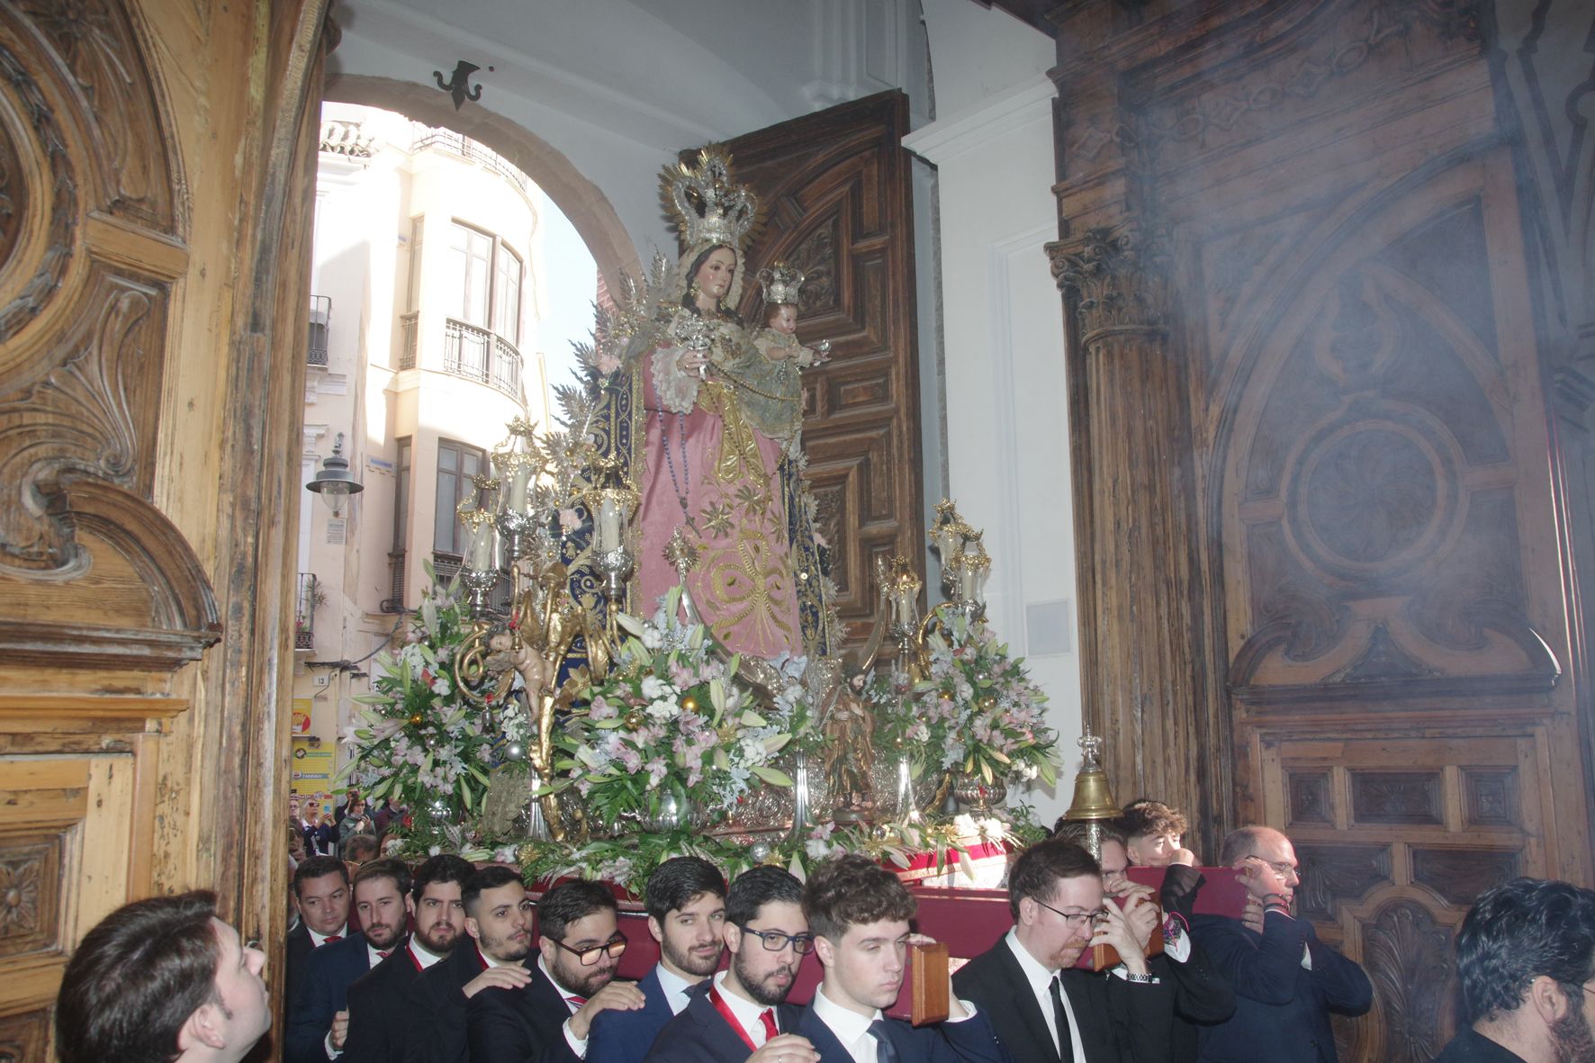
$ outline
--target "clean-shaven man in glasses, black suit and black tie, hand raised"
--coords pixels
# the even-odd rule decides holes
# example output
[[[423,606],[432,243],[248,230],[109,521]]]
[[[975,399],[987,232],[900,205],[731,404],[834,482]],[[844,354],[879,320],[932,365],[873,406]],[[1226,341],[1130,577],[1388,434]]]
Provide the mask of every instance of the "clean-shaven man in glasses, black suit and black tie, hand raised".
[[[1158,924],[1150,892],[1129,887],[1124,910],[1104,903],[1096,857],[1057,838],[1034,844],[1008,873],[1013,929],[952,985],[990,1017],[1018,1063],[1166,1060],[1174,990],[1145,956]],[[1121,966],[1075,967],[1094,943],[1112,945]]]

